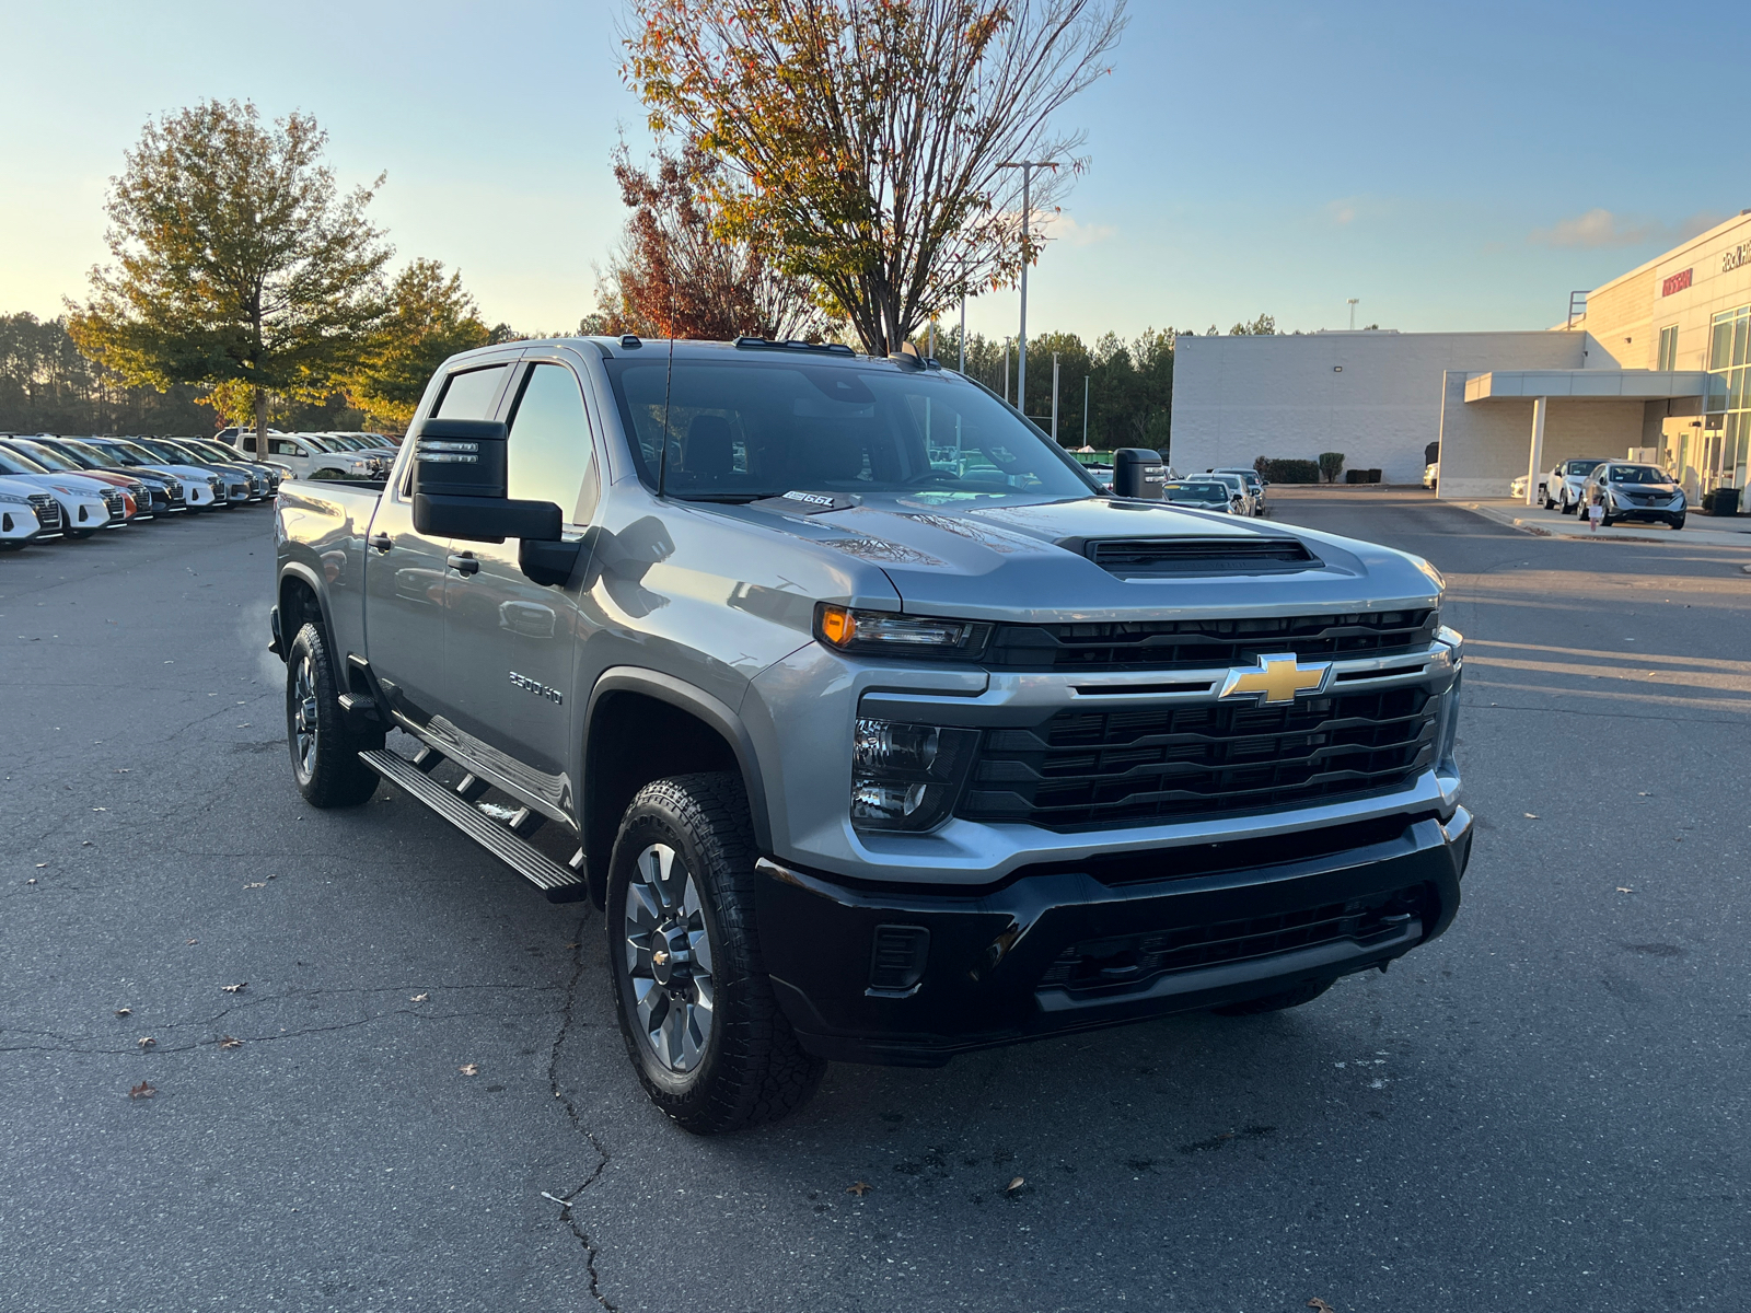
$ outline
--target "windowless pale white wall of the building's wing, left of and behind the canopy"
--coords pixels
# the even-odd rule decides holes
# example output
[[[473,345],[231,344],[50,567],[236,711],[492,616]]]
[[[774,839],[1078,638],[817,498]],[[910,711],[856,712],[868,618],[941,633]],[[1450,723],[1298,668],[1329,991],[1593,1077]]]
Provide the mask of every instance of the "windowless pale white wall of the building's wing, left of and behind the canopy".
[[[1261,455],[1317,460],[1320,452],[1343,452],[1348,469],[1378,467],[1387,483],[1415,483],[1422,478],[1425,445],[1441,436],[1448,371],[1460,375],[1462,404],[1466,373],[1583,368],[1585,336],[1541,331],[1178,338],[1173,467],[1189,474],[1250,466]],[[1639,432],[1639,411],[1635,420]],[[1527,425],[1530,432],[1530,408]],[[1501,487],[1490,495],[1504,494]]]

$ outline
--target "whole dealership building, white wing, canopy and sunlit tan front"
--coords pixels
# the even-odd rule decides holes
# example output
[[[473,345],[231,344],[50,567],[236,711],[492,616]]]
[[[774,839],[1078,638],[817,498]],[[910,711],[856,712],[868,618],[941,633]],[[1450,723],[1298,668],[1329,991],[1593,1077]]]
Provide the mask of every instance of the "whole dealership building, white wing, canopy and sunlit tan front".
[[[1473,499],[1557,460],[1634,453],[1700,499],[1746,487],[1747,333],[1751,210],[1576,294],[1543,333],[1185,336],[1173,466],[1343,452],[1415,483],[1439,443],[1441,495]]]

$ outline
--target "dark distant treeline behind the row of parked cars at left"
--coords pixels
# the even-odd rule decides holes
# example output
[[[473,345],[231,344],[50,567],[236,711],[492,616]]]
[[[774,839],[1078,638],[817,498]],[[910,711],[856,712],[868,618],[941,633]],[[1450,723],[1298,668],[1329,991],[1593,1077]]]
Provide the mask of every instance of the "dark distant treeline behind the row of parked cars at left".
[[[128,387],[79,354],[60,315],[0,315],[0,432],[212,432],[222,420],[200,394],[187,385]],[[357,429],[361,420],[336,394],[327,404],[292,406],[284,424]]]

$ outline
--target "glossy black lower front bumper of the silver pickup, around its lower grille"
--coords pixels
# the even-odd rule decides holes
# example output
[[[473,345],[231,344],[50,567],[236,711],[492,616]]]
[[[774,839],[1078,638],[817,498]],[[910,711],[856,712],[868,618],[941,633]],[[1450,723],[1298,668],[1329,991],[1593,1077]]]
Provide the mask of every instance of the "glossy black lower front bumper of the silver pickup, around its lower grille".
[[[1471,856],[1471,816],[1406,819],[1392,839],[1252,870],[1171,875],[1107,886],[1086,872],[1031,874],[965,891],[874,886],[758,863],[756,914],[772,986],[811,1052],[833,1061],[940,1066],[1021,1040],[1191,1012],[1273,994],[1375,966],[1427,944],[1459,910]],[[1042,977],[1091,940],[1185,931],[1227,921],[1292,917],[1329,903],[1413,896],[1417,914],[1390,931],[1292,947],[1142,979],[1135,987],[1077,991]],[[905,998],[872,994],[879,924],[930,931],[930,959]]]

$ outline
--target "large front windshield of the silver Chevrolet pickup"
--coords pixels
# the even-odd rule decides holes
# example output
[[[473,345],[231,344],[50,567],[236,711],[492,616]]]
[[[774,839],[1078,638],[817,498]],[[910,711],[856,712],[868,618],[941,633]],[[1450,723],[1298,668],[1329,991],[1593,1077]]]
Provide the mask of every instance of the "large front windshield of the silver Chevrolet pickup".
[[[620,417],[657,487],[667,361],[608,362]],[[678,361],[665,490],[685,501],[784,492],[926,504],[1087,497],[1094,485],[1002,401],[956,375],[821,359]]]

